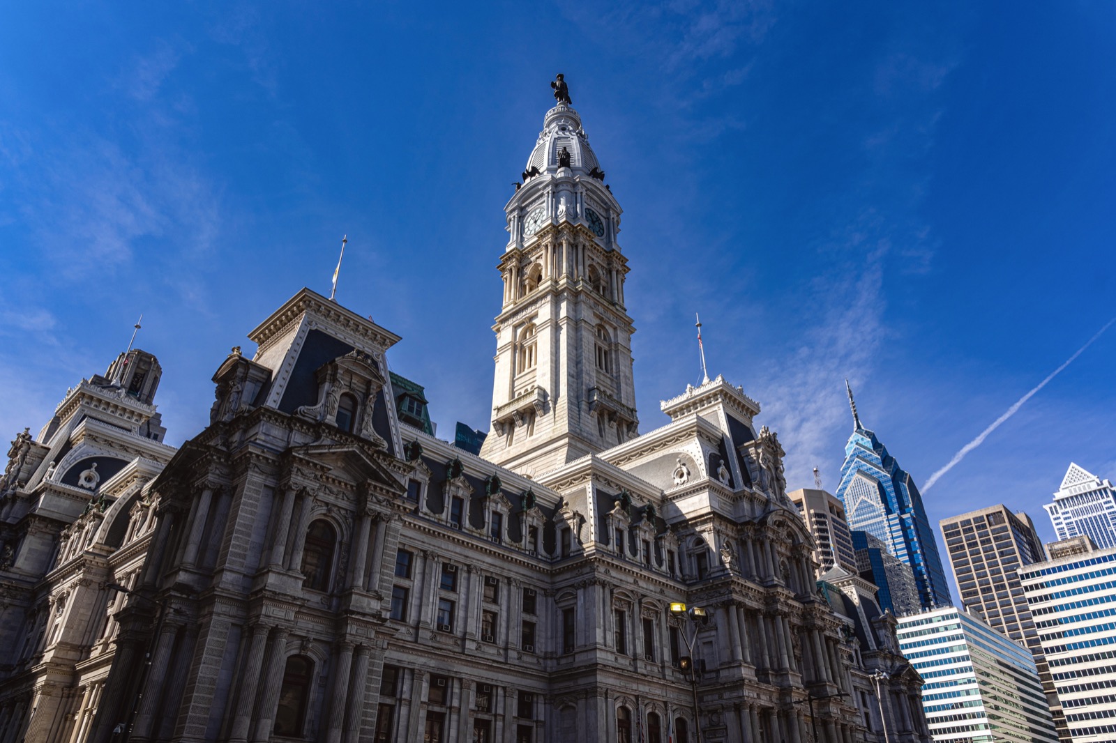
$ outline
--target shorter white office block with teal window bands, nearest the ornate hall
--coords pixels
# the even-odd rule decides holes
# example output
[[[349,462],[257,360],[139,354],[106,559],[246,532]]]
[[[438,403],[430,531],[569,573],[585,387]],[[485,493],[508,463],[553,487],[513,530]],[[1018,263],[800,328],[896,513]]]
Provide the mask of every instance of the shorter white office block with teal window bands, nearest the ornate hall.
[[[1035,660],[955,607],[902,617],[899,649],[925,682],[922,706],[935,741],[1058,740]]]

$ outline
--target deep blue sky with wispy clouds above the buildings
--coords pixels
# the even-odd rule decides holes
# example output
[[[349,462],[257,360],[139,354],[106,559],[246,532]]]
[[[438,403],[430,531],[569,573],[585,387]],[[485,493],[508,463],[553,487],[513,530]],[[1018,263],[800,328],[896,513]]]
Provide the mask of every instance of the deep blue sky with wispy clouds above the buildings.
[[[680,0],[0,8],[0,433],[137,345],[169,440],[302,286],[487,427],[502,206],[564,73],[625,209],[642,430],[711,373],[837,485],[917,482],[1116,315],[1116,6]],[[1116,329],[944,475],[931,519],[1116,476]]]

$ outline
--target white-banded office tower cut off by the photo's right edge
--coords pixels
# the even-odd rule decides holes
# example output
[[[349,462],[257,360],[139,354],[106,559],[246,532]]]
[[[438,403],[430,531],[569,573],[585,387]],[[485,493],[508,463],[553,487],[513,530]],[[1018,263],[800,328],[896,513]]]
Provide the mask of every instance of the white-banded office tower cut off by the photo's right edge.
[[[1047,544],[1019,571],[1074,743],[1116,740],[1116,548]]]

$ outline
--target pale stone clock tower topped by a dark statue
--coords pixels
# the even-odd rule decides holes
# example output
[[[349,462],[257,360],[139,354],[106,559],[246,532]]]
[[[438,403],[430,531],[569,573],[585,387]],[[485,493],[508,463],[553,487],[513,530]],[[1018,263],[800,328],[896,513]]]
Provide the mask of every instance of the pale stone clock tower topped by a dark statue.
[[[535,476],[637,433],[620,208],[561,76],[504,206],[492,431],[481,456]]]

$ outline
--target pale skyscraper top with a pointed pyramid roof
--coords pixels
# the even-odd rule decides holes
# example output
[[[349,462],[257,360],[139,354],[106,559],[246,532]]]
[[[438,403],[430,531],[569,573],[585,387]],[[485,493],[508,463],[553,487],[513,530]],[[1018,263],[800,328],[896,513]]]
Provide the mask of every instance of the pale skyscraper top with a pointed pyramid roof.
[[[1070,462],[1054,503],[1042,508],[1050,514],[1058,539],[1086,535],[1101,549],[1116,547],[1116,490],[1110,480]]]

